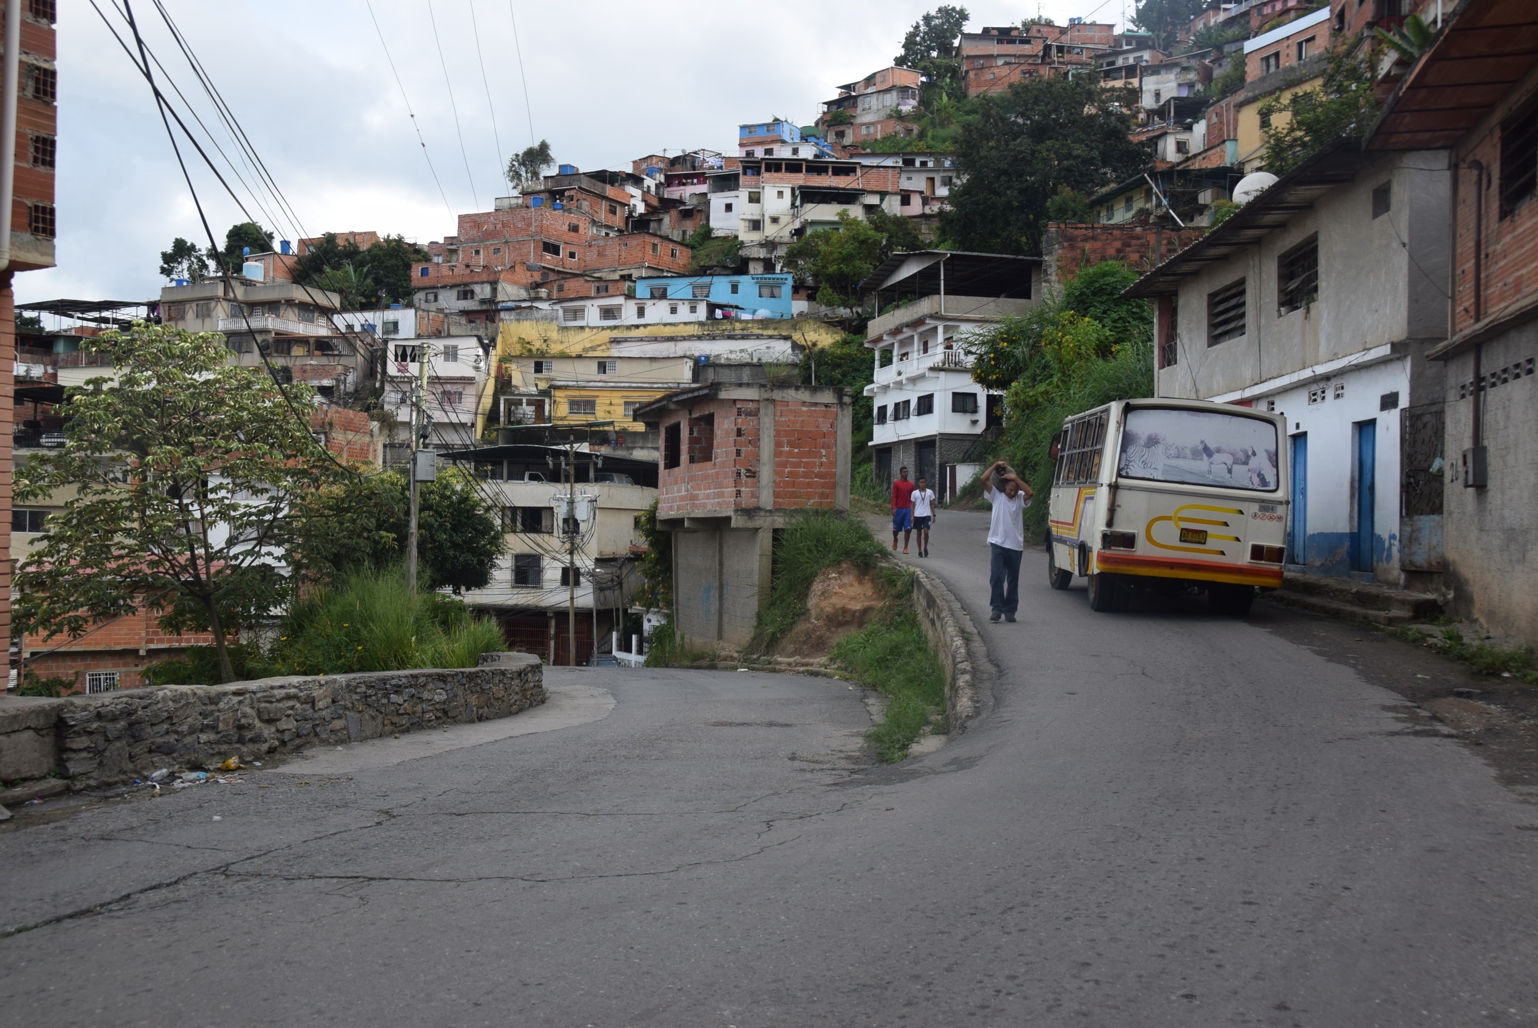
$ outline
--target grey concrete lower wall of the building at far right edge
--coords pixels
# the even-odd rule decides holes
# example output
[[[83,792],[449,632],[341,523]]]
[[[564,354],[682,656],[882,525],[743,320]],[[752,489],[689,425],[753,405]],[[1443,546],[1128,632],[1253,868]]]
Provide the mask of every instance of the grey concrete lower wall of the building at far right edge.
[[[1447,422],[1443,503],[1446,579],[1453,608],[1493,636],[1538,646],[1538,322],[1487,343],[1481,374],[1493,383],[1483,394],[1483,434],[1489,448],[1489,486],[1464,488],[1461,457],[1473,445],[1473,354],[1447,360]],[[1513,377],[1520,365],[1521,377]]]

